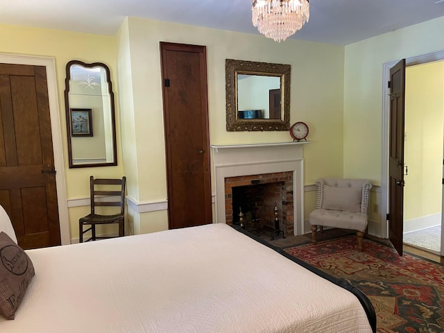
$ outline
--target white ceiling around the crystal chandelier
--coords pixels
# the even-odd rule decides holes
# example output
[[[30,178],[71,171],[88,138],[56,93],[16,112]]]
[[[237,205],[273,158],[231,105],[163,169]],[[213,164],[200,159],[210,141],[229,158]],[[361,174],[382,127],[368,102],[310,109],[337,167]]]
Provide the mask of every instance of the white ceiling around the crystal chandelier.
[[[251,0],[0,0],[5,24],[113,35],[126,16],[257,33]],[[444,0],[310,0],[292,38],[347,45],[441,16]]]

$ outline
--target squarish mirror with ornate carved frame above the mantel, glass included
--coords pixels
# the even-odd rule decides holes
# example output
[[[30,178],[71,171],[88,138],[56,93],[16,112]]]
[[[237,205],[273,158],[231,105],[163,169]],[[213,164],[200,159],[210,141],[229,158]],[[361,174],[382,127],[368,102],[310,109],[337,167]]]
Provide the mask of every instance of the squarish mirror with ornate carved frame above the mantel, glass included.
[[[291,65],[225,60],[227,130],[289,130]]]

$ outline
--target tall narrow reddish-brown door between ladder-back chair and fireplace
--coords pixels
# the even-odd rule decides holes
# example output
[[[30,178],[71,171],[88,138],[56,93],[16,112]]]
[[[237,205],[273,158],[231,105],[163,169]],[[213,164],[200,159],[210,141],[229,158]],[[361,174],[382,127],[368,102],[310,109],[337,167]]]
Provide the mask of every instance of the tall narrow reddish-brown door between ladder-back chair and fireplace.
[[[212,222],[205,46],[160,43],[169,228]]]

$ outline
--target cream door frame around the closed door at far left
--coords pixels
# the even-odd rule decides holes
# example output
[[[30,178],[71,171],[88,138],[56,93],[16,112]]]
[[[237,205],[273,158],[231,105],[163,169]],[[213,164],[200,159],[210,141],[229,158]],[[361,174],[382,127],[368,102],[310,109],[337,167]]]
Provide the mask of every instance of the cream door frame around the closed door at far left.
[[[49,114],[51,117],[51,135],[53,142],[54,167],[56,167],[56,188],[58,200],[58,218],[60,223],[60,239],[62,245],[71,244],[67,192],[65,183],[65,163],[63,162],[62,127],[60,126],[60,110],[54,58],[40,56],[24,56],[12,53],[0,53],[0,62],[16,65],[46,67],[48,85]]]

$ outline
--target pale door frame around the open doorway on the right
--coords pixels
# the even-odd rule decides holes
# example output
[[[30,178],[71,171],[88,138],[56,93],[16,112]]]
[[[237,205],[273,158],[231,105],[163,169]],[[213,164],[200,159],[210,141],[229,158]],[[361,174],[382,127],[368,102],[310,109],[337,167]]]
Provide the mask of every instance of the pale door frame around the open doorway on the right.
[[[401,57],[402,58],[402,57]],[[422,56],[406,58],[406,67],[412,65],[425,64],[437,60],[444,60],[444,51],[427,53]],[[386,62],[383,65],[382,74],[382,177],[381,177],[381,230],[380,237],[388,238],[388,221],[384,216],[388,212],[388,142],[389,142],[389,119],[390,119],[390,89],[388,81],[390,80],[390,69],[395,66],[399,60]],[[444,198],[443,198],[444,200]],[[441,237],[442,241],[443,237]],[[443,250],[443,248],[441,248]]]

